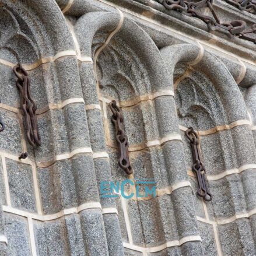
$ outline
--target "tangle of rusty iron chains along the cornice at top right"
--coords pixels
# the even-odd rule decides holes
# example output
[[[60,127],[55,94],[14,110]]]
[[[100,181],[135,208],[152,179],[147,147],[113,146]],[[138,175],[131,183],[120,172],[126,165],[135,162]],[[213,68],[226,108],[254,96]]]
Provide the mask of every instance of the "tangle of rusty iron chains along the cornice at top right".
[[[250,29],[247,29],[247,24],[243,20],[232,20],[231,22],[220,22],[220,19],[213,8],[213,0],[199,0],[198,2],[187,2],[184,0],[158,0],[162,5],[169,10],[176,10],[184,15],[197,17],[205,22],[210,31],[218,30],[225,33],[229,37],[239,37],[247,41],[251,41],[256,44],[256,38],[253,34],[256,34],[256,23]],[[233,1],[233,0],[226,0]],[[241,0],[237,0],[241,1]],[[250,0],[244,0],[244,2]],[[253,9],[255,11],[255,1],[251,0],[251,4],[248,4],[247,9]],[[242,2],[242,1],[241,1]],[[247,5],[246,5],[247,6]],[[250,6],[250,7],[249,7]],[[201,8],[209,8],[212,16],[204,15],[200,12]],[[250,10],[251,10],[250,9]]]

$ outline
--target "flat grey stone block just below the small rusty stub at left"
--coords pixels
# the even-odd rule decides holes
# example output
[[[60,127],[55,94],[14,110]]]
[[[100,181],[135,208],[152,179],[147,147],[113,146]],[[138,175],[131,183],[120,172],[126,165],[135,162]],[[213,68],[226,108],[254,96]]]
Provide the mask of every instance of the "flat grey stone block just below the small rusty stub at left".
[[[6,169],[12,207],[36,212],[36,198],[34,195],[31,166],[6,159]]]

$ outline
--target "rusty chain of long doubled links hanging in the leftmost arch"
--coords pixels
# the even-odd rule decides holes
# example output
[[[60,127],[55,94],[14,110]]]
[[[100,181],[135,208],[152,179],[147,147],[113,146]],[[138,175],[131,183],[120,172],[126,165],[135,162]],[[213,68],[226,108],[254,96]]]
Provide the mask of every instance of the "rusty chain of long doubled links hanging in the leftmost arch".
[[[23,110],[23,114],[26,120],[26,128],[27,128],[27,141],[30,145],[40,146],[40,136],[38,134],[38,126],[37,126],[37,117],[36,117],[36,110],[37,106],[36,103],[31,99],[30,95],[30,78],[28,73],[20,64],[17,64],[13,67],[13,72],[17,77],[16,86],[20,91],[20,96],[22,97],[21,100],[21,107]]]

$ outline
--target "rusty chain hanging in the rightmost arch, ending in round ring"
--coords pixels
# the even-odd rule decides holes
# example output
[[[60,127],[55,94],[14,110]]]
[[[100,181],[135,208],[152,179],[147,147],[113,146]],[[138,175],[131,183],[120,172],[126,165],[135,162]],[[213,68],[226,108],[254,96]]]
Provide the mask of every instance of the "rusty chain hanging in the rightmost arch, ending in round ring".
[[[212,194],[209,192],[208,184],[206,182],[205,178],[205,166],[202,162],[202,156],[199,148],[199,139],[197,132],[194,131],[192,127],[188,128],[187,131],[185,131],[185,135],[190,140],[190,146],[192,149],[192,157],[193,157],[193,166],[192,171],[197,176],[197,182],[198,182],[198,190],[197,194],[199,197],[204,198],[205,201],[211,201],[212,200]]]

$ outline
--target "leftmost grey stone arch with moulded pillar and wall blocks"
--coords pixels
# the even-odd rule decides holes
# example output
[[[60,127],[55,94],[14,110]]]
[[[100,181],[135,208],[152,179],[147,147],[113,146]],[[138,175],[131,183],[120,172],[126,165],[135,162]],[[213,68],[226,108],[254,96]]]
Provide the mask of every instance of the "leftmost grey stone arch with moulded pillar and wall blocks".
[[[0,12],[0,114],[6,123],[0,135],[0,255],[108,255],[104,225],[113,227],[115,220],[103,220],[111,209],[100,204],[78,59],[65,17],[55,1],[3,0]],[[21,129],[12,73],[17,62],[31,78],[39,148],[27,145]],[[19,160],[24,151],[29,157]]]

